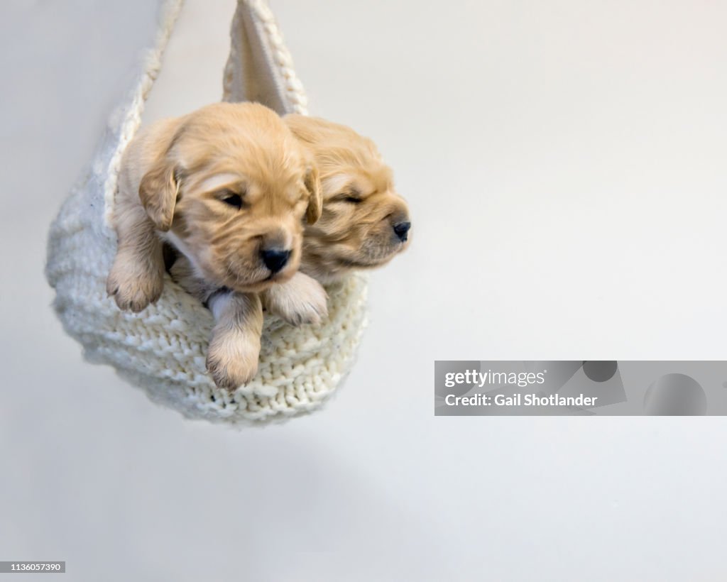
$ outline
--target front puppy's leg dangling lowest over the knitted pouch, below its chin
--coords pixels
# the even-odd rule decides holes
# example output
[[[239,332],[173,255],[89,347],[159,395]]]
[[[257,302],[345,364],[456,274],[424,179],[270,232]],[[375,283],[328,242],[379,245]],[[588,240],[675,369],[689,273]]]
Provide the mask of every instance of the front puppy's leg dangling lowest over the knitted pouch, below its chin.
[[[262,304],[252,293],[216,291],[208,300],[215,325],[209,340],[207,370],[214,384],[231,391],[257,373],[262,335]]]

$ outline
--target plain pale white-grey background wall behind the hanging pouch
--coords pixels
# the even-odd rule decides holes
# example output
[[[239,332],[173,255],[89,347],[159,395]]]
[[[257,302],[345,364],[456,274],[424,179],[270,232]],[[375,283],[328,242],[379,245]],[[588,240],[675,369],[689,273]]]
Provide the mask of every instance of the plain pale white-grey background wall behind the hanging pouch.
[[[434,418],[435,359],[721,359],[724,2],[273,1],[312,113],[414,216],[325,411],[184,421],[63,335],[47,225],[153,33],[145,0],[0,17],[0,559],[65,579],[727,577],[722,418]],[[446,9],[444,8],[446,6]],[[190,0],[148,117],[220,96]]]

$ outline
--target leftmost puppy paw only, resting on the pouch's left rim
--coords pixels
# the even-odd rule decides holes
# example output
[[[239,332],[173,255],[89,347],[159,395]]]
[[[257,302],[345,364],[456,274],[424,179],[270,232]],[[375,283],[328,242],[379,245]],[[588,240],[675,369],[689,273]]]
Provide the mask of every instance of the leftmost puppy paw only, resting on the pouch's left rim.
[[[157,270],[140,267],[131,260],[117,257],[106,279],[106,292],[119,309],[140,312],[156,302],[164,288],[164,278]]]

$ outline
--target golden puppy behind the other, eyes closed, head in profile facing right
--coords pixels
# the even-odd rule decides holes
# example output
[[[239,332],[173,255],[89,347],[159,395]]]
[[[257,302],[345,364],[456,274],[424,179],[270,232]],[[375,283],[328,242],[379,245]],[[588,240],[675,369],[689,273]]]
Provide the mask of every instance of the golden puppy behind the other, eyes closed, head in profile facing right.
[[[313,155],[321,179],[321,218],[305,227],[300,271],[262,291],[268,311],[292,325],[318,323],[327,313],[321,283],[387,263],[409,244],[409,210],[392,172],[371,140],[323,119],[289,115],[285,123]],[[196,296],[215,292],[182,257],[172,279]],[[202,290],[202,291],[201,291]]]

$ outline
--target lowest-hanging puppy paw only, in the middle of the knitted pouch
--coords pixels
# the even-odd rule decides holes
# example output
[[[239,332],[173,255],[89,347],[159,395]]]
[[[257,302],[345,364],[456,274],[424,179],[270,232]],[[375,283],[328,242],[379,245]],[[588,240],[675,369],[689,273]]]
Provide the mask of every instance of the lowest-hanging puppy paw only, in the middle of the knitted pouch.
[[[214,384],[233,392],[257,373],[260,338],[236,331],[213,331],[207,351],[207,371]]]

